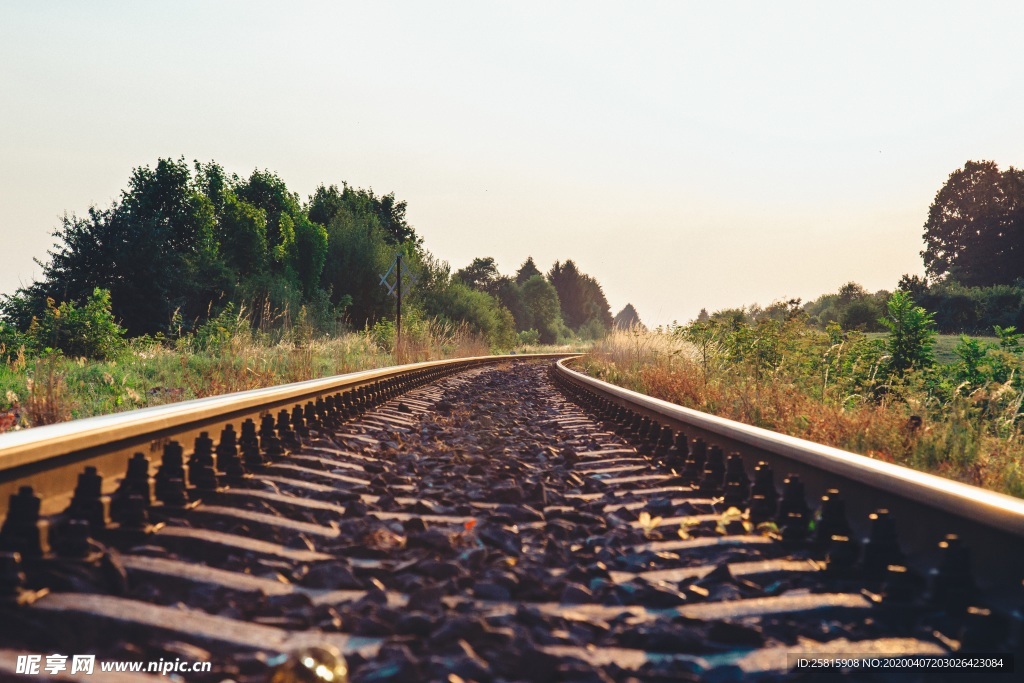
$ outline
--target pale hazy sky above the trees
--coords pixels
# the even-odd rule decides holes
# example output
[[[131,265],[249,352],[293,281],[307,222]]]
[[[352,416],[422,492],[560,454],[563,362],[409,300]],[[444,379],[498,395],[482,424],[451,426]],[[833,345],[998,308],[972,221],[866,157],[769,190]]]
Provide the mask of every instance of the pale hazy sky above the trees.
[[[924,273],[1024,166],[1024,3],[0,0],[0,292],[179,158],[394,191],[438,258],[572,259],[648,325]]]

